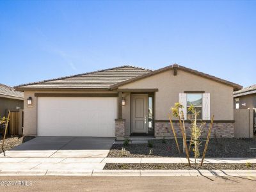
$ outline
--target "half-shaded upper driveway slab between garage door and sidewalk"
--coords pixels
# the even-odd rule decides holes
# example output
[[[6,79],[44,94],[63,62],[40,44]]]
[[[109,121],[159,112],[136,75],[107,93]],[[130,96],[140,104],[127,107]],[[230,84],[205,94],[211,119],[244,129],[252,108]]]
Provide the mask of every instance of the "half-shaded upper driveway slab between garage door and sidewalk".
[[[15,158],[106,157],[113,142],[114,138],[37,137],[6,151],[5,155]]]

